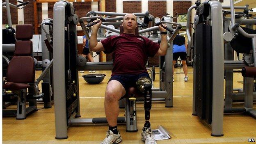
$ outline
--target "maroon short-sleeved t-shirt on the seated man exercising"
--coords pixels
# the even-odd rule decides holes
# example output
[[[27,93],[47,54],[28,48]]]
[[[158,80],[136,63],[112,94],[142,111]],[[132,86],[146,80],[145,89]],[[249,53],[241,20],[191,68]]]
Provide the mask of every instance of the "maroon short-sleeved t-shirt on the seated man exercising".
[[[153,57],[160,45],[146,37],[120,34],[101,41],[104,53],[113,52],[112,75],[133,75],[146,72],[148,57]]]

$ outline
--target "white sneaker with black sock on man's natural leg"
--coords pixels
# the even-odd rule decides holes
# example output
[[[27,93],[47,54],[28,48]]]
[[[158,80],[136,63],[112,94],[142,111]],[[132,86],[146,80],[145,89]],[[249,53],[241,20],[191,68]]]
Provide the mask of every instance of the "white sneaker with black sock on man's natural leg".
[[[114,134],[111,130],[107,130],[106,138],[101,142],[101,144],[118,144],[122,141],[120,133]]]

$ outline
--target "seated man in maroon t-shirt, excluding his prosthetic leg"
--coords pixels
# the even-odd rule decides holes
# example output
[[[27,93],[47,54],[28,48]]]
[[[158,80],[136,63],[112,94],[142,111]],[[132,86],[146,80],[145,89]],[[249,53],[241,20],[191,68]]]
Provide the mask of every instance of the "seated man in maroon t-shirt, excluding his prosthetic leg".
[[[128,93],[129,87],[135,87],[140,78],[147,78],[150,81],[146,70],[147,59],[155,55],[166,55],[167,32],[161,25],[159,26],[159,30],[162,32],[160,45],[148,38],[135,35],[137,18],[134,14],[129,13],[123,17],[123,34],[111,36],[98,42],[97,32],[100,25],[101,21],[93,26],[89,48],[91,51],[113,53],[114,65],[111,78],[107,83],[104,101],[109,129],[107,137],[101,144],[118,144],[122,140],[117,130],[118,101]],[[166,25],[164,26],[166,27]],[[156,144],[152,135],[148,120],[142,129],[142,140],[145,141],[145,144]]]

